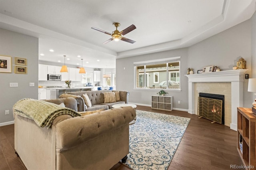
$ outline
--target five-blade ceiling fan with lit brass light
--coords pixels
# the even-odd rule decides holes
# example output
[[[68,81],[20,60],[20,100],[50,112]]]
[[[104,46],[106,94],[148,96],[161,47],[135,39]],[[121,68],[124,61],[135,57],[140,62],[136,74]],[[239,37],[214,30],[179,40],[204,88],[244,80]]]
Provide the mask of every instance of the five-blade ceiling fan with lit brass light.
[[[110,38],[107,41],[105,41],[104,44],[108,43],[108,42],[111,42],[112,40],[115,40],[115,41],[122,40],[122,41],[128,42],[128,43],[135,43],[136,42],[136,41],[133,41],[133,40],[130,40],[128,38],[123,37],[125,34],[127,34],[127,33],[131,32],[132,30],[136,29],[136,26],[134,26],[132,24],[131,26],[129,26],[126,29],[124,29],[124,30],[119,32],[117,30],[117,28],[120,26],[120,24],[118,22],[114,22],[113,25],[116,27],[116,30],[114,30],[112,32],[112,34],[110,32],[106,32],[104,30],[100,30],[99,28],[92,27],[92,29],[100,31],[100,32],[103,32],[105,34],[108,34],[108,35],[112,36],[112,38]]]

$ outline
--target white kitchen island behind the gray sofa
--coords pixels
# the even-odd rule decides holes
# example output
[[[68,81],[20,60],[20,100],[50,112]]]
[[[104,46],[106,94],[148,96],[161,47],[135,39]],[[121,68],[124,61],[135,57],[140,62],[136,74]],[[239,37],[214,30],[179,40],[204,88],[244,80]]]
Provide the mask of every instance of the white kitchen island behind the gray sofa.
[[[64,88],[64,87],[45,87],[46,89],[46,99],[58,99],[62,93],[76,92],[76,91],[92,91],[94,86],[85,87],[74,87],[74,88]]]

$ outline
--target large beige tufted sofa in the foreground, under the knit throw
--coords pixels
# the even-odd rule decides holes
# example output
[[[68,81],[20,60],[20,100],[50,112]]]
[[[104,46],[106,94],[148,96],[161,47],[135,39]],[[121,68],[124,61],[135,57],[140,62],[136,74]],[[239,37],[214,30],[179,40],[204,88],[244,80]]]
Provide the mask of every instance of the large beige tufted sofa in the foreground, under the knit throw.
[[[76,100],[52,99],[76,109]],[[132,107],[108,109],[82,117],[61,115],[51,128],[14,115],[14,146],[27,169],[109,170],[129,152]]]

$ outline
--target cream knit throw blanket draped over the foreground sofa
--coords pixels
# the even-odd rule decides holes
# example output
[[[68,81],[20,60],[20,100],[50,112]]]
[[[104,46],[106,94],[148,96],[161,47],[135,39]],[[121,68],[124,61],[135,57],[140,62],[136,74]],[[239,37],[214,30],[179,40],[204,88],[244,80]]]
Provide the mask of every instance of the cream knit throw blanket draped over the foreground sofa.
[[[39,127],[46,126],[48,128],[52,126],[52,121],[59,115],[81,116],[73,109],[36,99],[21,99],[14,104],[13,114],[33,119]]]

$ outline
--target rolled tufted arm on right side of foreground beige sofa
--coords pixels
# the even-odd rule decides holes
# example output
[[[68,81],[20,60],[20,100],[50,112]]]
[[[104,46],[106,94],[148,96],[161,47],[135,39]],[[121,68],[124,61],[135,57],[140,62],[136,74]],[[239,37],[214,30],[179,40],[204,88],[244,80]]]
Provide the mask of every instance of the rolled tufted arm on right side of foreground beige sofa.
[[[61,152],[97,138],[129,124],[135,115],[135,110],[126,106],[66,119],[56,126],[56,149]]]

